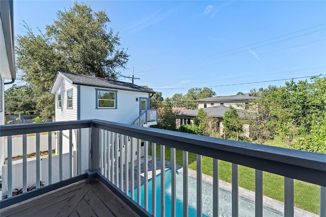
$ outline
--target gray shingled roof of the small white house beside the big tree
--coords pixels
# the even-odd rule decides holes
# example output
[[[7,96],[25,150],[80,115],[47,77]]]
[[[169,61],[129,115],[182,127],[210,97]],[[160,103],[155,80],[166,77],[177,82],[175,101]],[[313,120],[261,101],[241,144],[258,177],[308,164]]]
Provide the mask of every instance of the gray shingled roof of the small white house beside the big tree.
[[[67,77],[72,82],[73,85],[110,88],[110,89],[137,91],[137,92],[145,92],[145,93],[155,93],[155,91],[148,90],[141,86],[134,85],[127,82],[119,82],[118,80],[108,80],[105,78],[74,74],[70,72],[58,72],[58,74],[59,73]]]

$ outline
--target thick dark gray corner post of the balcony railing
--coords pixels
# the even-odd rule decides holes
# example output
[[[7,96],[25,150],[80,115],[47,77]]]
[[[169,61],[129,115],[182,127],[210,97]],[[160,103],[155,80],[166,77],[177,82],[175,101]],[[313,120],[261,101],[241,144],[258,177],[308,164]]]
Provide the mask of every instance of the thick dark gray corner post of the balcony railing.
[[[90,128],[90,155],[89,155],[89,170],[95,172],[100,169],[100,130],[92,126]]]

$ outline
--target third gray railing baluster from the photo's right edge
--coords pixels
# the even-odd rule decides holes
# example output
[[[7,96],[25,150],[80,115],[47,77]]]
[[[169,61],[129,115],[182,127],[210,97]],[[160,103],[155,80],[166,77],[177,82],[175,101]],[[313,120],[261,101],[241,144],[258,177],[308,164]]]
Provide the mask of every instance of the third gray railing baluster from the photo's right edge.
[[[255,170],[255,216],[263,216],[263,171]]]

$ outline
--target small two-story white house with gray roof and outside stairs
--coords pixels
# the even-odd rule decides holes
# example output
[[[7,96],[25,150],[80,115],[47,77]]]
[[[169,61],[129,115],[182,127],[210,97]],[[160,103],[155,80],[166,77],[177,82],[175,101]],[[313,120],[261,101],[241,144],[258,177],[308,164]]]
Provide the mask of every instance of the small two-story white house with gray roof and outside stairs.
[[[157,124],[157,112],[150,110],[150,97],[155,92],[138,85],[58,72],[51,93],[56,95],[55,121],[101,119],[141,126]],[[76,151],[78,147],[75,144],[79,144],[82,156],[87,156],[88,129],[74,130],[72,138],[73,150]],[[119,138],[119,141],[122,139]],[[63,144],[63,153],[68,152],[69,145],[65,144],[69,144],[69,131],[63,132]],[[78,167],[84,171],[88,168],[88,158],[82,159],[84,161],[78,162]]]

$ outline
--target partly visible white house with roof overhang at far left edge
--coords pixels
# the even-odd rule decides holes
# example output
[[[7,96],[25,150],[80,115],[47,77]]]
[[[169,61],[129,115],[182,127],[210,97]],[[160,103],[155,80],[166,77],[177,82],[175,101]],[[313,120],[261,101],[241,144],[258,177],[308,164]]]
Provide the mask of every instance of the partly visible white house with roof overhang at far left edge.
[[[0,20],[0,125],[3,125],[5,124],[5,85],[14,83],[16,79],[12,1],[0,1]],[[5,83],[5,79],[11,82]],[[0,200],[4,162],[5,138],[0,138]]]

